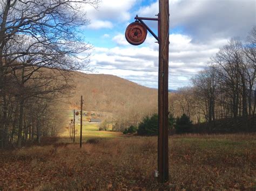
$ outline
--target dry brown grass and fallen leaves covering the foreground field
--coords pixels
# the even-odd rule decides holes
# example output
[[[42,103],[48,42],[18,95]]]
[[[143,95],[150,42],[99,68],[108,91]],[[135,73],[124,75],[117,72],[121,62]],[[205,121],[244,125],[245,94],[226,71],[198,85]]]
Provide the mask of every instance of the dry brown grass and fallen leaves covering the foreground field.
[[[1,153],[0,190],[256,189],[255,135],[170,137],[170,181],[158,184],[157,137],[100,139]]]

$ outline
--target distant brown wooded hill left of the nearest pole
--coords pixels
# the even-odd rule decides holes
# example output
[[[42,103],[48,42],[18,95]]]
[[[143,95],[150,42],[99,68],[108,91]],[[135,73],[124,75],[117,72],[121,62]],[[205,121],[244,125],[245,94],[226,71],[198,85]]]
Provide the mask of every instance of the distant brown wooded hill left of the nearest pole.
[[[106,74],[76,72],[73,82],[76,88],[69,99],[73,106],[79,107],[83,95],[85,110],[114,112],[124,117],[157,110],[157,89]]]

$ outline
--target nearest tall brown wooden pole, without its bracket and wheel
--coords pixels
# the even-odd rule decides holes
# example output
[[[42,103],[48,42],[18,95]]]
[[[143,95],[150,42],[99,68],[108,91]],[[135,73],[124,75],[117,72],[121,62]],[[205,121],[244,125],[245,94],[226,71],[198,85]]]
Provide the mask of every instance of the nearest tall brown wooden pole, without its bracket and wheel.
[[[158,182],[169,180],[168,161],[168,77],[169,77],[169,0],[159,0],[158,15]]]

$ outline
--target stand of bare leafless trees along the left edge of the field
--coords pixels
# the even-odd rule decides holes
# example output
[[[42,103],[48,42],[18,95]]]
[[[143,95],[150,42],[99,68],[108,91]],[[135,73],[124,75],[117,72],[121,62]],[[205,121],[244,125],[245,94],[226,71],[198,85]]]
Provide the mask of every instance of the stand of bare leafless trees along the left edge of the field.
[[[1,148],[56,134],[56,99],[68,93],[70,71],[87,65],[77,53],[90,49],[77,37],[88,23],[80,3],[98,2],[0,2]]]

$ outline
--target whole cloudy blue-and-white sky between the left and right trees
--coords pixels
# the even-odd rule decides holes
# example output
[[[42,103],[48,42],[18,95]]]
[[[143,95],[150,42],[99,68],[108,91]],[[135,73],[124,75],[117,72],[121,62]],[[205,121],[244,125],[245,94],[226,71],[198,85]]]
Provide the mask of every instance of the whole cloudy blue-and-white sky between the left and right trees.
[[[99,74],[113,74],[157,88],[158,44],[147,34],[133,46],[125,40],[134,17],[156,17],[155,0],[102,0],[95,10],[86,6],[90,24],[82,27],[94,48],[90,65]],[[146,22],[157,33],[157,22]],[[170,0],[169,89],[190,85],[190,78],[207,66],[210,57],[232,37],[244,40],[256,25],[254,0]],[[83,56],[83,54],[80,54]]]

